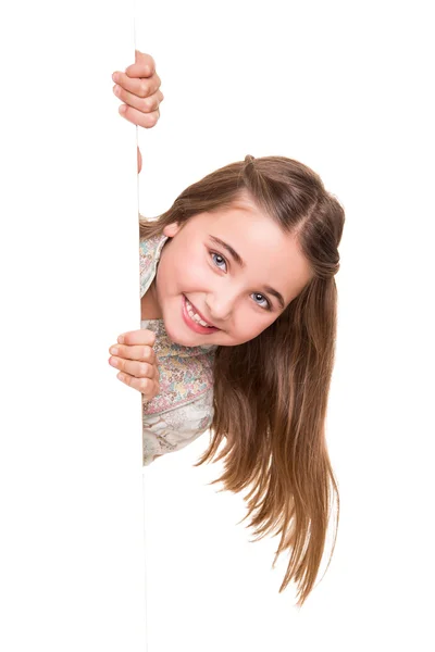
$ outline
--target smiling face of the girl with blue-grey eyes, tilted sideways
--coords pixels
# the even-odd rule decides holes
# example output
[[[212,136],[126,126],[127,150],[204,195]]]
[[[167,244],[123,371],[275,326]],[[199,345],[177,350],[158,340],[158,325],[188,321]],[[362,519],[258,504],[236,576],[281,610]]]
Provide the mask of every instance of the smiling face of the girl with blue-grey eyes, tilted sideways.
[[[200,213],[182,227],[173,223],[163,234],[171,239],[150,292],[169,337],[185,347],[235,347],[253,339],[312,275],[295,236],[283,234],[246,193],[231,209]],[[196,333],[186,323],[184,297],[220,330]]]

